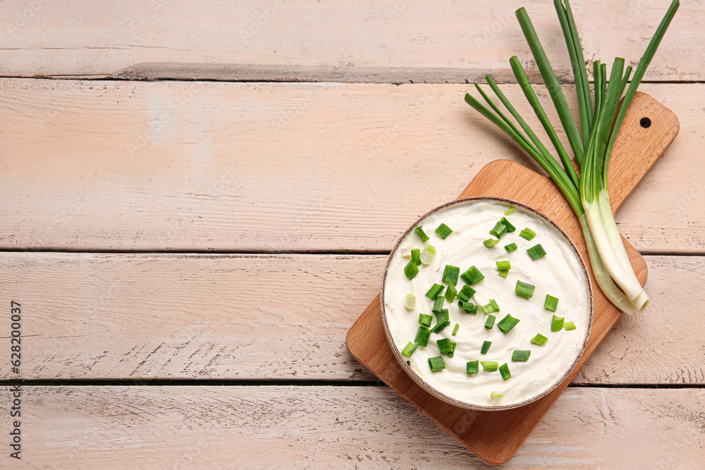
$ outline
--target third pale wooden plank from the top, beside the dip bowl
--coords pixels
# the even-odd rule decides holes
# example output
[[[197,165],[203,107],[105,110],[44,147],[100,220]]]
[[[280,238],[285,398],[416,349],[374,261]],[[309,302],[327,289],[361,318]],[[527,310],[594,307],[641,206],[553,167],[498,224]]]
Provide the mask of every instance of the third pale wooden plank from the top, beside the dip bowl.
[[[702,260],[646,261],[649,307],[620,320],[577,383],[705,383]],[[0,253],[0,297],[24,311],[23,378],[374,381],[350,357],[345,335],[378,292],[385,262]],[[277,295],[262,295],[263,286]],[[9,315],[0,318],[0,329],[10,331]],[[0,369],[0,378],[13,376]]]

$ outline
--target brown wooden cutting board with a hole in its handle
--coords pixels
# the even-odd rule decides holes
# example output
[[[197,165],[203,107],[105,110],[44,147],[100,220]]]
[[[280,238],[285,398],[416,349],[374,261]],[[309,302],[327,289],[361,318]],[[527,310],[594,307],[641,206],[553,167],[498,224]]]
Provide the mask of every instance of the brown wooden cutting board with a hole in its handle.
[[[675,114],[644,93],[637,93],[613,149],[608,181],[613,211],[617,211],[639,181],[654,166],[676,135]],[[475,176],[460,197],[498,196],[534,207],[560,225],[589,259],[580,224],[556,185],[513,161],[496,160]],[[422,208],[426,211],[428,208]],[[412,222],[412,221],[410,221]],[[642,283],[646,282],[644,258],[624,240],[627,253]],[[588,263],[589,268],[589,263]],[[590,270],[592,279],[592,271]],[[544,414],[556,402],[590,354],[620,318],[621,312],[593,283],[594,321],[587,348],[572,374],[546,397],[502,412],[475,412],[442,402],[423,390],[401,368],[384,335],[379,295],[369,304],[348,332],[350,354],[399,395],[427,414],[450,435],[490,464],[508,462],[519,450]],[[646,309],[644,315],[649,314]]]

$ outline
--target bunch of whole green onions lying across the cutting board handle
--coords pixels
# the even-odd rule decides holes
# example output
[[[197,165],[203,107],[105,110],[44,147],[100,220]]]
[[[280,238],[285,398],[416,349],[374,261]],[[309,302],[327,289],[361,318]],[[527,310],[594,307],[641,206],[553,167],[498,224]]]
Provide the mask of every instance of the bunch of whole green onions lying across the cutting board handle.
[[[520,8],[516,14],[534,60],[541,72],[541,77],[544,79],[544,84],[551,95],[553,106],[558,112],[565,135],[568,137],[568,143],[575,157],[575,162],[577,167],[580,168],[580,175],[577,174],[568,151],[558,139],[556,130],[548,120],[541,103],[539,103],[539,99],[529,83],[529,79],[517,56],[513,56],[509,61],[514,75],[534,113],[539,118],[539,122],[546,131],[548,140],[551,140],[560,163],[539,140],[533,130],[529,128],[529,125],[512,106],[490,75],[486,77],[489,87],[505,109],[513,116],[516,123],[510,120],[477,84],[475,87],[489,108],[470,94],[465,94],[465,101],[519,144],[532,159],[539,163],[541,168],[544,168],[544,171],[556,183],[570,207],[575,211],[578,221],[580,221],[596,283],[616,307],[627,314],[632,314],[634,309],[643,310],[649,302],[649,297],[644,292],[642,285],[639,284],[639,280],[637,280],[615,223],[607,185],[608,166],[612,148],[627,109],[629,109],[632,98],[637,92],[637,87],[639,87],[639,83],[644,77],[646,68],[649,66],[651,59],[654,58],[654,54],[656,54],[658,44],[661,43],[663,35],[666,34],[668,25],[673,20],[675,12],[678,11],[680,2],[673,0],[670,4],[666,16],[661,20],[654,37],[649,42],[649,46],[646,47],[646,51],[639,61],[628,88],[627,83],[629,82],[632,68],[629,66],[625,68],[623,58],[615,58],[609,78],[606,64],[595,61],[594,102],[587,78],[587,68],[582,46],[580,45],[580,38],[577,35],[575,20],[570,9],[570,2],[568,0],[554,0],[553,5],[556,7],[556,13],[558,13],[558,20],[563,30],[565,44],[568,47],[572,73],[575,79],[580,111],[580,130],[578,130],[578,125],[572,118],[568,101],[566,101],[563,91],[560,89],[556,73],[553,72],[544,48],[541,47],[539,37],[525,8]],[[624,94],[625,88],[627,88],[626,94]],[[582,131],[582,135],[580,131]]]

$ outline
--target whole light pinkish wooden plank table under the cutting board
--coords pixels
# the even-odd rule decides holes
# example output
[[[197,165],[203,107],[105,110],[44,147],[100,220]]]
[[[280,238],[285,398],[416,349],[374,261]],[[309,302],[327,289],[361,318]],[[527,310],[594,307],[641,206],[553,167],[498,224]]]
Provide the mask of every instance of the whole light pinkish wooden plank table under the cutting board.
[[[0,467],[486,468],[345,333],[410,221],[534,168],[462,101],[529,57],[522,5],[567,80],[548,0],[0,2]],[[667,6],[575,0],[587,58],[637,61]],[[641,88],[681,123],[618,214],[651,304],[507,468],[705,467],[704,23],[681,6]]]

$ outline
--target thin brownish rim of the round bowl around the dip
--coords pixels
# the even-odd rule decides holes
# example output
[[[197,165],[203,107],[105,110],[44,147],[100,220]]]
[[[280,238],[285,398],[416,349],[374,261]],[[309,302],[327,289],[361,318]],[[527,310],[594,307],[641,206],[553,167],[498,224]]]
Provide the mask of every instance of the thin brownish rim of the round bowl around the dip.
[[[522,209],[525,209],[529,212],[531,212],[534,215],[539,216],[541,219],[543,219],[546,223],[551,225],[553,228],[560,233],[560,235],[563,236],[563,238],[568,242],[568,245],[572,248],[572,251],[577,255],[578,261],[580,261],[580,266],[582,266],[582,271],[585,275],[585,278],[587,279],[587,292],[588,292],[588,297],[589,297],[589,321],[587,325],[587,330],[585,331],[585,337],[582,342],[582,345],[580,346],[580,350],[578,351],[577,356],[575,359],[572,361],[572,364],[570,364],[570,367],[563,373],[563,376],[560,376],[558,380],[553,383],[550,387],[548,387],[546,390],[543,392],[539,393],[538,395],[534,395],[533,397],[529,397],[526,400],[523,400],[522,402],[517,402],[513,404],[503,404],[503,405],[498,405],[498,406],[486,406],[486,405],[480,405],[480,404],[471,404],[467,402],[462,402],[456,398],[450,397],[443,392],[440,392],[439,390],[436,390],[432,385],[424,381],[421,376],[419,376],[416,371],[414,371],[409,364],[406,363],[406,358],[402,356],[401,351],[397,347],[396,344],[394,344],[394,340],[391,336],[391,331],[389,330],[389,326],[387,323],[387,316],[386,316],[386,310],[384,308],[384,286],[386,285],[386,280],[387,280],[387,273],[389,271],[389,265],[391,264],[392,258],[394,254],[396,254],[397,250],[399,249],[402,240],[406,238],[409,233],[414,230],[417,225],[421,221],[424,220],[424,218],[427,218],[431,214],[434,214],[438,211],[441,211],[442,209],[446,209],[449,206],[455,206],[455,205],[460,205],[460,204],[468,204],[468,203],[474,203],[474,202],[482,202],[482,201],[491,201],[491,202],[501,202],[503,204],[509,204],[512,206],[518,206]],[[523,407],[529,403],[535,402],[537,400],[540,400],[541,398],[545,397],[549,393],[553,392],[553,390],[556,390],[558,388],[558,385],[563,383],[568,376],[572,373],[572,371],[575,370],[575,367],[577,366],[578,362],[580,361],[580,358],[582,357],[582,354],[585,352],[585,348],[587,347],[587,342],[590,339],[590,334],[592,330],[592,321],[594,317],[594,295],[593,295],[593,290],[592,290],[592,282],[590,278],[589,271],[587,269],[587,265],[585,264],[585,261],[582,257],[582,254],[580,253],[580,250],[577,249],[577,246],[575,246],[575,243],[570,240],[570,237],[568,236],[565,231],[560,228],[560,226],[554,222],[550,217],[546,216],[543,212],[539,211],[538,209],[534,209],[532,206],[528,206],[527,204],[524,204],[523,202],[518,202],[515,201],[514,199],[508,199],[505,197],[496,197],[496,196],[474,196],[474,197],[462,197],[460,199],[455,199],[455,201],[450,201],[446,202],[444,204],[441,204],[440,206],[435,207],[434,209],[431,209],[428,211],[426,214],[420,216],[417,218],[417,220],[409,227],[405,232],[399,237],[397,240],[396,244],[394,245],[393,249],[389,253],[389,256],[387,258],[386,265],[384,266],[384,275],[382,276],[382,285],[380,289],[380,294],[379,294],[379,304],[380,304],[380,309],[381,309],[381,315],[382,315],[382,323],[384,323],[384,334],[386,335],[387,342],[391,346],[392,353],[394,357],[396,357],[398,363],[400,366],[402,366],[402,369],[412,378],[417,385],[419,385],[421,388],[426,390],[427,392],[431,393],[431,395],[434,395],[435,397],[439,398],[440,400],[443,400],[443,402],[453,404],[456,407],[460,408],[465,408],[465,409],[473,409],[477,411],[501,411],[505,409],[513,409],[513,408],[518,408],[518,407]]]

